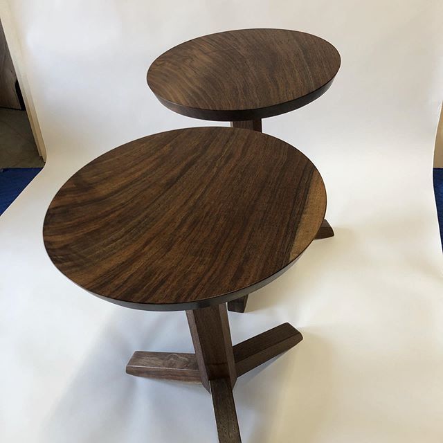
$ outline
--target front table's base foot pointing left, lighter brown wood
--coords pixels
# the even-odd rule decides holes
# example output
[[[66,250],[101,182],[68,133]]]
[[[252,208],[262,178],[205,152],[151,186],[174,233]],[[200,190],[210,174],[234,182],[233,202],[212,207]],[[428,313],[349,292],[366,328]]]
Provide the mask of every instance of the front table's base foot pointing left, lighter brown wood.
[[[201,383],[195,354],[136,351],[126,365],[126,373],[150,379]]]

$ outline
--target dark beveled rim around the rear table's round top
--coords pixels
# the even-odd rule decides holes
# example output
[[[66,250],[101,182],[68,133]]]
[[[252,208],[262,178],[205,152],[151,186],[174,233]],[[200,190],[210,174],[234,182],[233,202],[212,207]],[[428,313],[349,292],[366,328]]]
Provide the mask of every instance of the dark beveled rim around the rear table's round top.
[[[304,31],[299,30],[293,30],[293,29],[285,29],[285,28],[242,28],[242,29],[231,29],[231,30],[223,30],[219,31],[218,33],[211,33],[206,35],[200,35],[199,37],[194,37],[192,39],[186,40],[186,42],[181,42],[175,46],[172,46],[172,48],[167,49],[160,55],[158,55],[154,62],[150,64],[150,67],[147,70],[146,73],[146,81],[147,85],[154,93],[154,96],[156,96],[157,100],[161,102],[161,104],[171,111],[177,112],[177,114],[181,114],[183,116],[192,117],[192,118],[198,118],[199,120],[210,120],[210,121],[243,121],[243,120],[256,120],[261,118],[269,118],[274,116],[279,116],[281,114],[286,114],[287,112],[294,111],[300,107],[303,107],[305,105],[309,105],[309,103],[313,102],[320,96],[323,96],[323,94],[331,87],[332,82],[334,82],[334,79],[336,78],[336,74],[325,84],[321,85],[317,89],[314,89],[314,91],[311,91],[304,96],[299,96],[297,98],[294,98],[293,100],[288,100],[286,102],[280,102],[276,103],[274,105],[269,105],[265,107],[256,107],[251,109],[205,109],[205,108],[198,108],[198,107],[189,107],[186,105],[181,105],[176,102],[172,102],[159,94],[157,94],[151,87],[149,82],[149,75],[150,71],[152,69],[152,66],[156,62],[156,60],[161,57],[161,55],[168,53],[169,51],[174,50],[175,48],[178,48],[179,46],[183,44],[187,44],[190,42],[193,42],[197,39],[200,39],[202,37],[210,37],[211,35],[217,35],[217,34],[223,34],[223,33],[233,33],[236,31],[248,31],[248,30],[279,30],[279,31],[288,31],[288,32],[296,32],[304,35],[310,35],[312,37],[316,37],[320,40],[323,40],[326,44],[329,46],[332,46],[332,48],[335,49],[337,55],[338,55],[338,68],[336,71],[336,74],[340,70],[341,67],[341,55],[336,49],[336,47],[328,42],[326,39],[323,39],[323,37],[319,37],[318,35],[314,35],[311,33],[305,33]]]

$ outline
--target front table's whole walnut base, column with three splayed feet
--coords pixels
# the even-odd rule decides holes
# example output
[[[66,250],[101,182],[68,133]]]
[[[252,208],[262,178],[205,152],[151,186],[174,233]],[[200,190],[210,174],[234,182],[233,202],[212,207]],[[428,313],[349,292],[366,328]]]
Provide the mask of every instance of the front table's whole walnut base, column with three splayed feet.
[[[237,377],[302,341],[289,323],[233,346],[226,304],[186,311],[195,354],[136,351],[127,374],[202,383],[213,397],[220,443],[241,442],[233,387]]]

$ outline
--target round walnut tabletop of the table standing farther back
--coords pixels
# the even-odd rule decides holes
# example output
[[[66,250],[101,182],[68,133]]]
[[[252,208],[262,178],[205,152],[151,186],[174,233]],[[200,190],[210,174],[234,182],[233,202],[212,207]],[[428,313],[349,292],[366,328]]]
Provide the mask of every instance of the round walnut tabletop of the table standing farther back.
[[[332,44],[284,29],[205,35],[175,46],[147,71],[160,102],[204,120],[255,120],[321,96],[340,68]]]

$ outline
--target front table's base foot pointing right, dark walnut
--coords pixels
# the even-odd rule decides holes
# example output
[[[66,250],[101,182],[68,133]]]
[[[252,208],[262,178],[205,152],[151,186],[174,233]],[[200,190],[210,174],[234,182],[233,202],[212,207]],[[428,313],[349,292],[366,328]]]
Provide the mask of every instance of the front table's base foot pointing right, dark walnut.
[[[291,349],[302,339],[302,334],[295,327],[283,323],[238,343],[234,346],[237,377]]]

